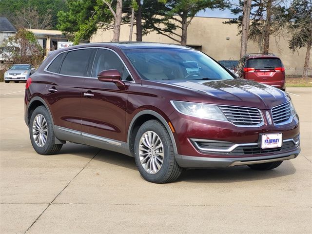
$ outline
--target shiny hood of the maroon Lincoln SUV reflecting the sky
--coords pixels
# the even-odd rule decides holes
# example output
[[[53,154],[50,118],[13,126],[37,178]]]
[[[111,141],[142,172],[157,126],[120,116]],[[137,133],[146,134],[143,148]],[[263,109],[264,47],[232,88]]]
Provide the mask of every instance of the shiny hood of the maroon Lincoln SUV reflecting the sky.
[[[188,92],[190,95],[184,98],[193,102],[248,106],[264,110],[290,100],[285,92],[273,86],[246,79],[161,80],[159,82],[192,90],[193,92]]]

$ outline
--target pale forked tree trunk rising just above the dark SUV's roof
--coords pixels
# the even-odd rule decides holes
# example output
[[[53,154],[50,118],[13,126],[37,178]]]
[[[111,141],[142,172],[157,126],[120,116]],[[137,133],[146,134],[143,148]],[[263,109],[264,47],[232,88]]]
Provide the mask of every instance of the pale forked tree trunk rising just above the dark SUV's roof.
[[[113,36],[112,41],[114,41],[114,42],[119,41],[120,25],[121,25],[121,20],[122,20],[122,0],[117,0],[116,11],[112,7],[113,1],[108,2],[106,0],[103,0],[103,2],[108,6],[109,10],[113,14],[114,22],[113,23],[101,22],[101,23],[108,25],[108,26],[111,26],[113,28],[113,31],[114,31],[114,36]]]

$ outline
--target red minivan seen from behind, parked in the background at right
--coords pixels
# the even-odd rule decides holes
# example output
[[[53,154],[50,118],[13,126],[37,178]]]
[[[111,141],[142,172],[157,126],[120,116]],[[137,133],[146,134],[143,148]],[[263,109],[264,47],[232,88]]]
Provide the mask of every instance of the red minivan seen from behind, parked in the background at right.
[[[235,68],[239,78],[272,85],[285,91],[285,68],[281,59],[273,54],[248,54]]]

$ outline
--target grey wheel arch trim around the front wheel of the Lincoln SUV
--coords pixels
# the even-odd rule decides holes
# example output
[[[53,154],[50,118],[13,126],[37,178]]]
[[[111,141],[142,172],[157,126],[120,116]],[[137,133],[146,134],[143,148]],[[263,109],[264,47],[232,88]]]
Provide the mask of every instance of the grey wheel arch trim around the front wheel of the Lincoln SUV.
[[[176,148],[176,141],[175,137],[170,129],[170,126],[168,122],[165,120],[164,117],[159,115],[157,112],[152,110],[143,110],[137,113],[133,119],[130,122],[129,130],[128,130],[128,136],[127,136],[127,142],[129,143],[130,152],[133,154],[133,148],[134,148],[134,139],[137,135],[137,131],[139,127],[146,121],[156,119],[159,120],[164,127],[166,128],[167,132],[169,133],[170,139],[172,141],[173,147],[174,147],[174,153],[177,154],[177,148]]]

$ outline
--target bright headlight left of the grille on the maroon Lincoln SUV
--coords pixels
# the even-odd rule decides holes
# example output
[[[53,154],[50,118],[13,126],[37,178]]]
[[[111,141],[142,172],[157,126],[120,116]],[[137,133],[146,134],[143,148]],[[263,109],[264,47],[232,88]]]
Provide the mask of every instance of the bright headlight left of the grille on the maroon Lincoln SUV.
[[[187,116],[227,121],[219,107],[215,105],[184,101],[171,101],[171,104],[178,112]]]

